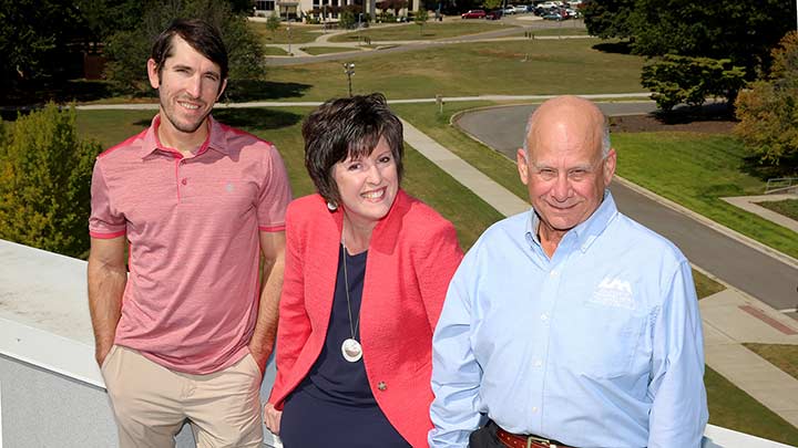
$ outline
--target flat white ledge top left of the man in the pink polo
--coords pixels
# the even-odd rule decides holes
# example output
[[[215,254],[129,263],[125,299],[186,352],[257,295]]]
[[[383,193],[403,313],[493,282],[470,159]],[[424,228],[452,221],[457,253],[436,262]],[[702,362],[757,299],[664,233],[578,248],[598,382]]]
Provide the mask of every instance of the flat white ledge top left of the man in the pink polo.
[[[4,240],[0,260],[0,353],[104,388],[86,262]]]

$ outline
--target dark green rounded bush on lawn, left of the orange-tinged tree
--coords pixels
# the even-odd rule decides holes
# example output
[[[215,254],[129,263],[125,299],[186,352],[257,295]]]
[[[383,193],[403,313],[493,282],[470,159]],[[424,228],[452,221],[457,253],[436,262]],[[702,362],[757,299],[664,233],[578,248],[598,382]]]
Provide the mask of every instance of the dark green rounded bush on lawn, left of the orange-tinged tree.
[[[641,83],[653,92],[657,107],[668,112],[681,103],[700,106],[710,96],[734,102],[745,85],[745,71],[728,59],[666,54],[643,66]]]

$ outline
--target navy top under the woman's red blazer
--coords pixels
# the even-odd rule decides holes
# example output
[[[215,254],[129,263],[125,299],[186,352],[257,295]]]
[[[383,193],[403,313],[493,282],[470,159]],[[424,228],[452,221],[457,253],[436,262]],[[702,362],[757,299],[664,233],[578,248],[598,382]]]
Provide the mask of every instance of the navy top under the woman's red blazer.
[[[346,256],[349,280],[347,303],[344,289],[344,250],[341,244],[325,345],[308,376],[286,398],[280,421],[280,440],[286,448],[409,447],[377,406],[362,357],[350,363],[341,354],[341,344],[351,337],[352,327],[355,338],[360,341],[357,323],[368,254],[366,251]]]

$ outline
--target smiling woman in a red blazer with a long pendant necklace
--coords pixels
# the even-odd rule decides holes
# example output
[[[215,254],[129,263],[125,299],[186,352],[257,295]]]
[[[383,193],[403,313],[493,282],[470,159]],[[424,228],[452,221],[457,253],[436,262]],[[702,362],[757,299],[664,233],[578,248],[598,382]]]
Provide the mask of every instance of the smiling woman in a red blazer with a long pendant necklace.
[[[286,448],[427,446],[454,228],[400,189],[402,126],[381,94],[325,103],[303,136],[318,194],[286,216],[266,424]]]

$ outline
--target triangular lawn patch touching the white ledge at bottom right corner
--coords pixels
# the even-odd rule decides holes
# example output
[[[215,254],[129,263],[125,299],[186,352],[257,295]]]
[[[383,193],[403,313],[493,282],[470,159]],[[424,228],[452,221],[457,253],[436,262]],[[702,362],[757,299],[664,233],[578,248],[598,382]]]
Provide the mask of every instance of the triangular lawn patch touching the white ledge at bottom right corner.
[[[709,367],[706,367],[704,384],[710,424],[798,446],[798,428]]]

